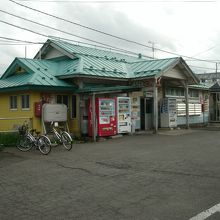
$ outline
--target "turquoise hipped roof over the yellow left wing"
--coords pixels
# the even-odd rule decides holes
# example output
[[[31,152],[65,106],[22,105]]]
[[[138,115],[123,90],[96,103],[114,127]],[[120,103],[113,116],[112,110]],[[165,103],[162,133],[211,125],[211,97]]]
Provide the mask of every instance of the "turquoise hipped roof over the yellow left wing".
[[[0,80],[0,89],[43,88],[74,89],[75,87],[55,77],[57,63],[47,60],[16,58]]]

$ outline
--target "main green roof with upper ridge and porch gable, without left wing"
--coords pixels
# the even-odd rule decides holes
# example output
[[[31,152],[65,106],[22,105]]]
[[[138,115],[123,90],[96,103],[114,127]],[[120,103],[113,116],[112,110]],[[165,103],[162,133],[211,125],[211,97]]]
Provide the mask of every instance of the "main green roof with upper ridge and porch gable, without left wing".
[[[47,53],[50,48],[63,52],[73,60],[73,63],[69,62],[64,66],[64,71],[57,73],[60,79],[79,76],[116,79],[153,78],[162,76],[165,71],[175,65],[180,65],[191,84],[199,82],[197,76],[181,57],[152,60],[138,57],[138,55],[131,56],[51,39],[45,43],[41,52],[38,52],[35,57]]]

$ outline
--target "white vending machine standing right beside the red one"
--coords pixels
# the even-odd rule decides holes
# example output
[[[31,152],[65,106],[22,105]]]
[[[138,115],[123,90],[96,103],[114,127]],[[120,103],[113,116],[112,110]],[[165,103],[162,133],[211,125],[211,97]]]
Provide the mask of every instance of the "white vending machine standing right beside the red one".
[[[131,99],[117,97],[117,133],[131,132]]]

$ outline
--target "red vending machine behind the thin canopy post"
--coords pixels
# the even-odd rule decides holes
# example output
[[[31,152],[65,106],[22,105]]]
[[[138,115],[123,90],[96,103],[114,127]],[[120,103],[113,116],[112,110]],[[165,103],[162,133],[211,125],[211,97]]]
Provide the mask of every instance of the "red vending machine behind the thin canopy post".
[[[93,135],[92,102],[89,101],[89,136]],[[99,137],[112,136],[117,133],[115,99],[96,98],[97,135]]]

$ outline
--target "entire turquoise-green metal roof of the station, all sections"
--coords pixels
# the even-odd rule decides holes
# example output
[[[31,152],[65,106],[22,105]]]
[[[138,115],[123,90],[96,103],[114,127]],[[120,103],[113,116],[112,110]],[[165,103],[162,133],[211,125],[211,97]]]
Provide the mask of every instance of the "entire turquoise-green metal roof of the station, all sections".
[[[43,60],[16,58],[2,75],[0,89],[12,87],[22,89],[24,86],[36,89],[38,86],[73,91],[76,87],[65,79],[77,77],[116,80],[158,78],[177,65],[191,84],[199,82],[181,57],[150,60],[55,40],[48,40],[42,47],[41,53],[46,55],[51,48],[59,51],[58,54],[61,56],[63,54],[63,57]],[[41,53],[39,52],[36,58]],[[22,71],[19,72],[18,68]],[[172,78],[172,75],[169,77]]]

